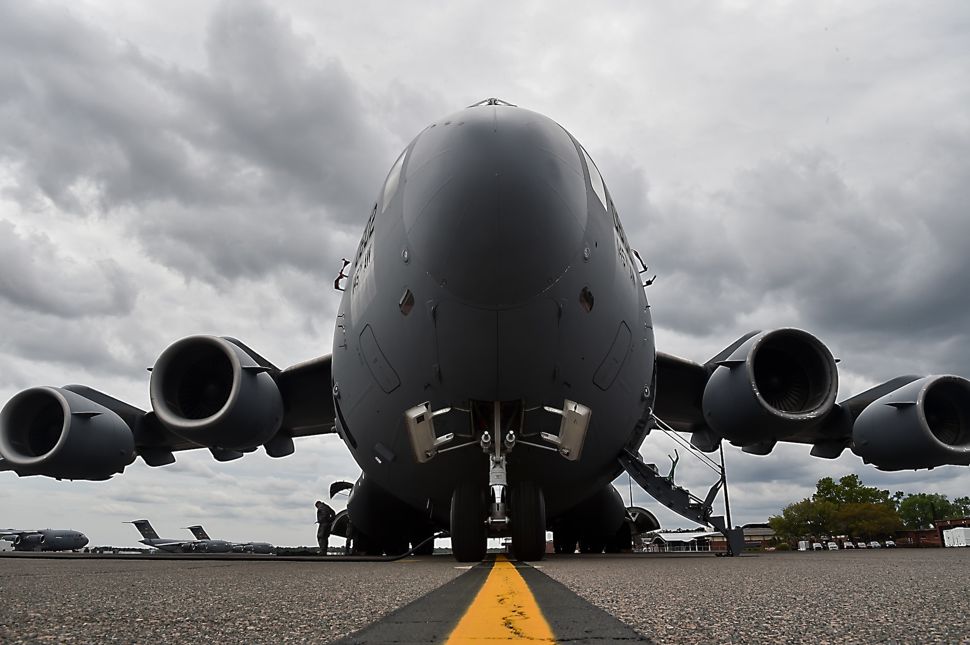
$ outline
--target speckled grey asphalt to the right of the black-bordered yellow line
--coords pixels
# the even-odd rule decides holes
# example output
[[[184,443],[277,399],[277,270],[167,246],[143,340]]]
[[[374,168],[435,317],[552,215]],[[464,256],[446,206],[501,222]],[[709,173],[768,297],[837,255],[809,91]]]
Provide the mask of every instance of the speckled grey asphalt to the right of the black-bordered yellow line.
[[[658,643],[970,643],[970,548],[548,556]]]

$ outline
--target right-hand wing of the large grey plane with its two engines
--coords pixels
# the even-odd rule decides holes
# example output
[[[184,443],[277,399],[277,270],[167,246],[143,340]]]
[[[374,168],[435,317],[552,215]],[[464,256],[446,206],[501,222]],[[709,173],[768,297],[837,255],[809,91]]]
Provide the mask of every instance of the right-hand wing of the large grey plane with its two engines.
[[[836,403],[837,359],[806,331],[753,331],[706,363],[658,352],[654,415],[711,452],[778,442],[838,457],[847,447],[882,470],[970,463],[970,382],[907,374]]]

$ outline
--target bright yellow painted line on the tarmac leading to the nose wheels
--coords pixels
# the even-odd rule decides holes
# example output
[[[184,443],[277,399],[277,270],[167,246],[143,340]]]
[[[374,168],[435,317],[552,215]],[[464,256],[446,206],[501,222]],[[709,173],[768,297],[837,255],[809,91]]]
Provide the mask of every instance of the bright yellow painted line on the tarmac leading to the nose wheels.
[[[529,585],[501,554],[445,645],[494,640],[556,642]]]

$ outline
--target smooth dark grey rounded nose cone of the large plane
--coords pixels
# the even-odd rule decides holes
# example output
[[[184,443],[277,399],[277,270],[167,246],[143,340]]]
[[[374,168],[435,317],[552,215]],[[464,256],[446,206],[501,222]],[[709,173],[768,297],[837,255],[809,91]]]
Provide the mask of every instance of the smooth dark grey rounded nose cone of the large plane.
[[[542,292],[579,256],[586,182],[555,121],[469,107],[426,129],[404,166],[409,251],[438,284],[504,305]]]

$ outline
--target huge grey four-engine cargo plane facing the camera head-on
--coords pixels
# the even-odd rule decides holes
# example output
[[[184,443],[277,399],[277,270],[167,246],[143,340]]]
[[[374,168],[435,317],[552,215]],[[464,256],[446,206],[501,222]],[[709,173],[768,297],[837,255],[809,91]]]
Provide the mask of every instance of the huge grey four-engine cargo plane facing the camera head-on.
[[[688,251],[689,252],[689,251]],[[31,387],[0,413],[0,468],[105,479],[208,447],[230,460],[337,432],[363,473],[355,543],[402,553],[448,530],[475,561],[510,536],[537,560],[629,542],[611,481],[626,469],[685,517],[740,542],[640,461],[655,427],[714,451],[852,449],[894,471],[970,464],[970,382],[907,375],[836,402],[836,360],[800,329],[753,331],[704,363],[658,352],[646,266],[583,146],[489,99],[415,137],[377,193],[331,353],[277,368],[231,337],[190,336],[151,368],[145,412],[83,385]],[[589,546],[594,545],[594,546]]]

